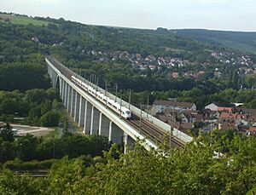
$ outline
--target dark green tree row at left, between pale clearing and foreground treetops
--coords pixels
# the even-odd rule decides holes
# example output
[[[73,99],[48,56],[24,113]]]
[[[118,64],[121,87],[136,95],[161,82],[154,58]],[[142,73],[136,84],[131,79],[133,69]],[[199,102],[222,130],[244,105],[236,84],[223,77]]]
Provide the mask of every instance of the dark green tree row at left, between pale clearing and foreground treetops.
[[[111,143],[102,136],[64,134],[52,137],[36,137],[25,135],[15,137],[12,127],[7,123],[0,131],[0,162],[27,162],[32,160],[44,161],[52,158],[77,158],[81,155],[92,157],[102,156],[102,151],[108,151]],[[18,167],[15,168],[18,170]]]

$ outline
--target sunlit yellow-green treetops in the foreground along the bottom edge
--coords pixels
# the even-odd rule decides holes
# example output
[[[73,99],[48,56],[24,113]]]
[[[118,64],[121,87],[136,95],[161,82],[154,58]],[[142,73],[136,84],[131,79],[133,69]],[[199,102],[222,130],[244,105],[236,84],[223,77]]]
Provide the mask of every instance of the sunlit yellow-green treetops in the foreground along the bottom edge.
[[[202,144],[203,143],[203,144]],[[105,160],[63,158],[45,179],[5,170],[0,192],[19,194],[245,194],[256,185],[256,141],[214,131],[183,149],[145,151],[137,144]],[[22,186],[20,185],[22,183]],[[26,188],[24,187],[26,186]]]

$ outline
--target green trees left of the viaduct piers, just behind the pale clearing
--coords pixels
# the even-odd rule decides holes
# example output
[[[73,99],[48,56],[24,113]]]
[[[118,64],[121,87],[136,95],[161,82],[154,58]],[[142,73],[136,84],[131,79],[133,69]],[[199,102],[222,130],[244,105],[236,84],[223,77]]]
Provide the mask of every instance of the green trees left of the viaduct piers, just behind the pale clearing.
[[[18,90],[0,91],[0,120],[56,127],[61,121],[67,128],[67,119],[61,112],[58,89],[30,89],[25,93]]]

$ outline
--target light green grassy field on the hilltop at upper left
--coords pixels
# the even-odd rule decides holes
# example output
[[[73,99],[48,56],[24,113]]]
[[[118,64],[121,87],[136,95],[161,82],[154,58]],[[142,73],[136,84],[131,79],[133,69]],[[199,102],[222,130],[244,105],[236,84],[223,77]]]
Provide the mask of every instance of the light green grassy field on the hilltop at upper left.
[[[12,15],[12,14],[0,14],[0,18],[2,22],[7,22],[9,20],[12,24],[16,25],[29,25],[32,24],[34,26],[47,26],[50,22],[43,20],[36,20],[32,17],[26,17],[21,15]]]

